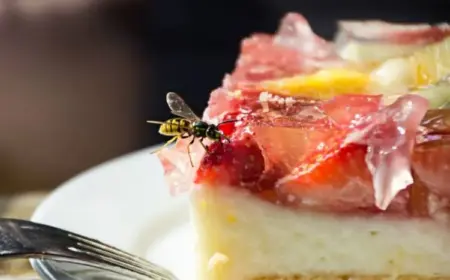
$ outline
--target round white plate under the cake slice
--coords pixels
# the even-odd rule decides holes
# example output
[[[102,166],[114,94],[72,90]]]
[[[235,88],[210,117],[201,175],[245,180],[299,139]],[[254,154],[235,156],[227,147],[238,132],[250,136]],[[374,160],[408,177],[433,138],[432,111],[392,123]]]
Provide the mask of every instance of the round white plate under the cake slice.
[[[181,280],[195,279],[187,196],[169,195],[162,167],[150,150],[120,157],[69,180],[38,207],[32,220],[146,257]],[[48,262],[36,260],[32,265],[44,279],[61,277],[54,275]]]

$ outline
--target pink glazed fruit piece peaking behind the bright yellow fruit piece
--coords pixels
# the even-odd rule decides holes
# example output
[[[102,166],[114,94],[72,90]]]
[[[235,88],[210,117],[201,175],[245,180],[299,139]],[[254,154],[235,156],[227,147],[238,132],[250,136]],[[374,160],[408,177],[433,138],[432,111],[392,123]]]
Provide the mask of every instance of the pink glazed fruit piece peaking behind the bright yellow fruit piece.
[[[300,14],[289,13],[276,35],[255,34],[244,39],[234,72],[224,80],[228,89],[258,89],[265,80],[311,73],[339,59],[332,45],[312,31]]]

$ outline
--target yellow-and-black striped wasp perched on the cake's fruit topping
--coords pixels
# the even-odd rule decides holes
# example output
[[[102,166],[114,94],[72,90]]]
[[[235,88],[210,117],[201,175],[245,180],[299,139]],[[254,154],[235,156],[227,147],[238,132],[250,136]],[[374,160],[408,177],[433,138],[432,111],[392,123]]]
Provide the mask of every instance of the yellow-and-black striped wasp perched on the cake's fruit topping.
[[[186,104],[186,102],[175,92],[169,92],[166,96],[167,105],[169,105],[172,114],[178,116],[177,118],[169,119],[165,122],[160,121],[147,121],[148,123],[159,124],[159,134],[164,136],[172,136],[172,138],[167,141],[160,149],[155,152],[160,151],[167,145],[173,143],[177,139],[191,138],[187,146],[187,152],[189,155],[189,160],[191,166],[194,164],[191,158],[190,146],[194,143],[195,139],[199,139],[202,147],[208,152],[208,147],[203,143],[205,139],[212,141],[226,140],[230,142],[229,138],[226,137],[222,131],[219,130],[219,126],[224,123],[235,122],[236,120],[226,120],[218,125],[210,124],[202,121]]]

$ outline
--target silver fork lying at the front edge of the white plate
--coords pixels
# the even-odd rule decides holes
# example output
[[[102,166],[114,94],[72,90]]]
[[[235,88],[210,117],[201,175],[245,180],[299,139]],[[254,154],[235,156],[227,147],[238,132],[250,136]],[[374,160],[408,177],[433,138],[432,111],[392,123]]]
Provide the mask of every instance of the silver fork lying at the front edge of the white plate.
[[[0,219],[0,258],[62,261],[132,279],[177,280],[167,269],[98,240],[17,219]]]

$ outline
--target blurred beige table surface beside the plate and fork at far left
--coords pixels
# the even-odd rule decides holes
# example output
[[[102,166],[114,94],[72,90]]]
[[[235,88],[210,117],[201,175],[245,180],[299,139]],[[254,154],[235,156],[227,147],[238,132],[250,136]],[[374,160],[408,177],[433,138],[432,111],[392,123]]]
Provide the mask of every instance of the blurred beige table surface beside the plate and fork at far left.
[[[47,196],[45,192],[0,196],[0,217],[29,219],[34,209]],[[28,260],[0,261],[0,280],[39,279]]]

